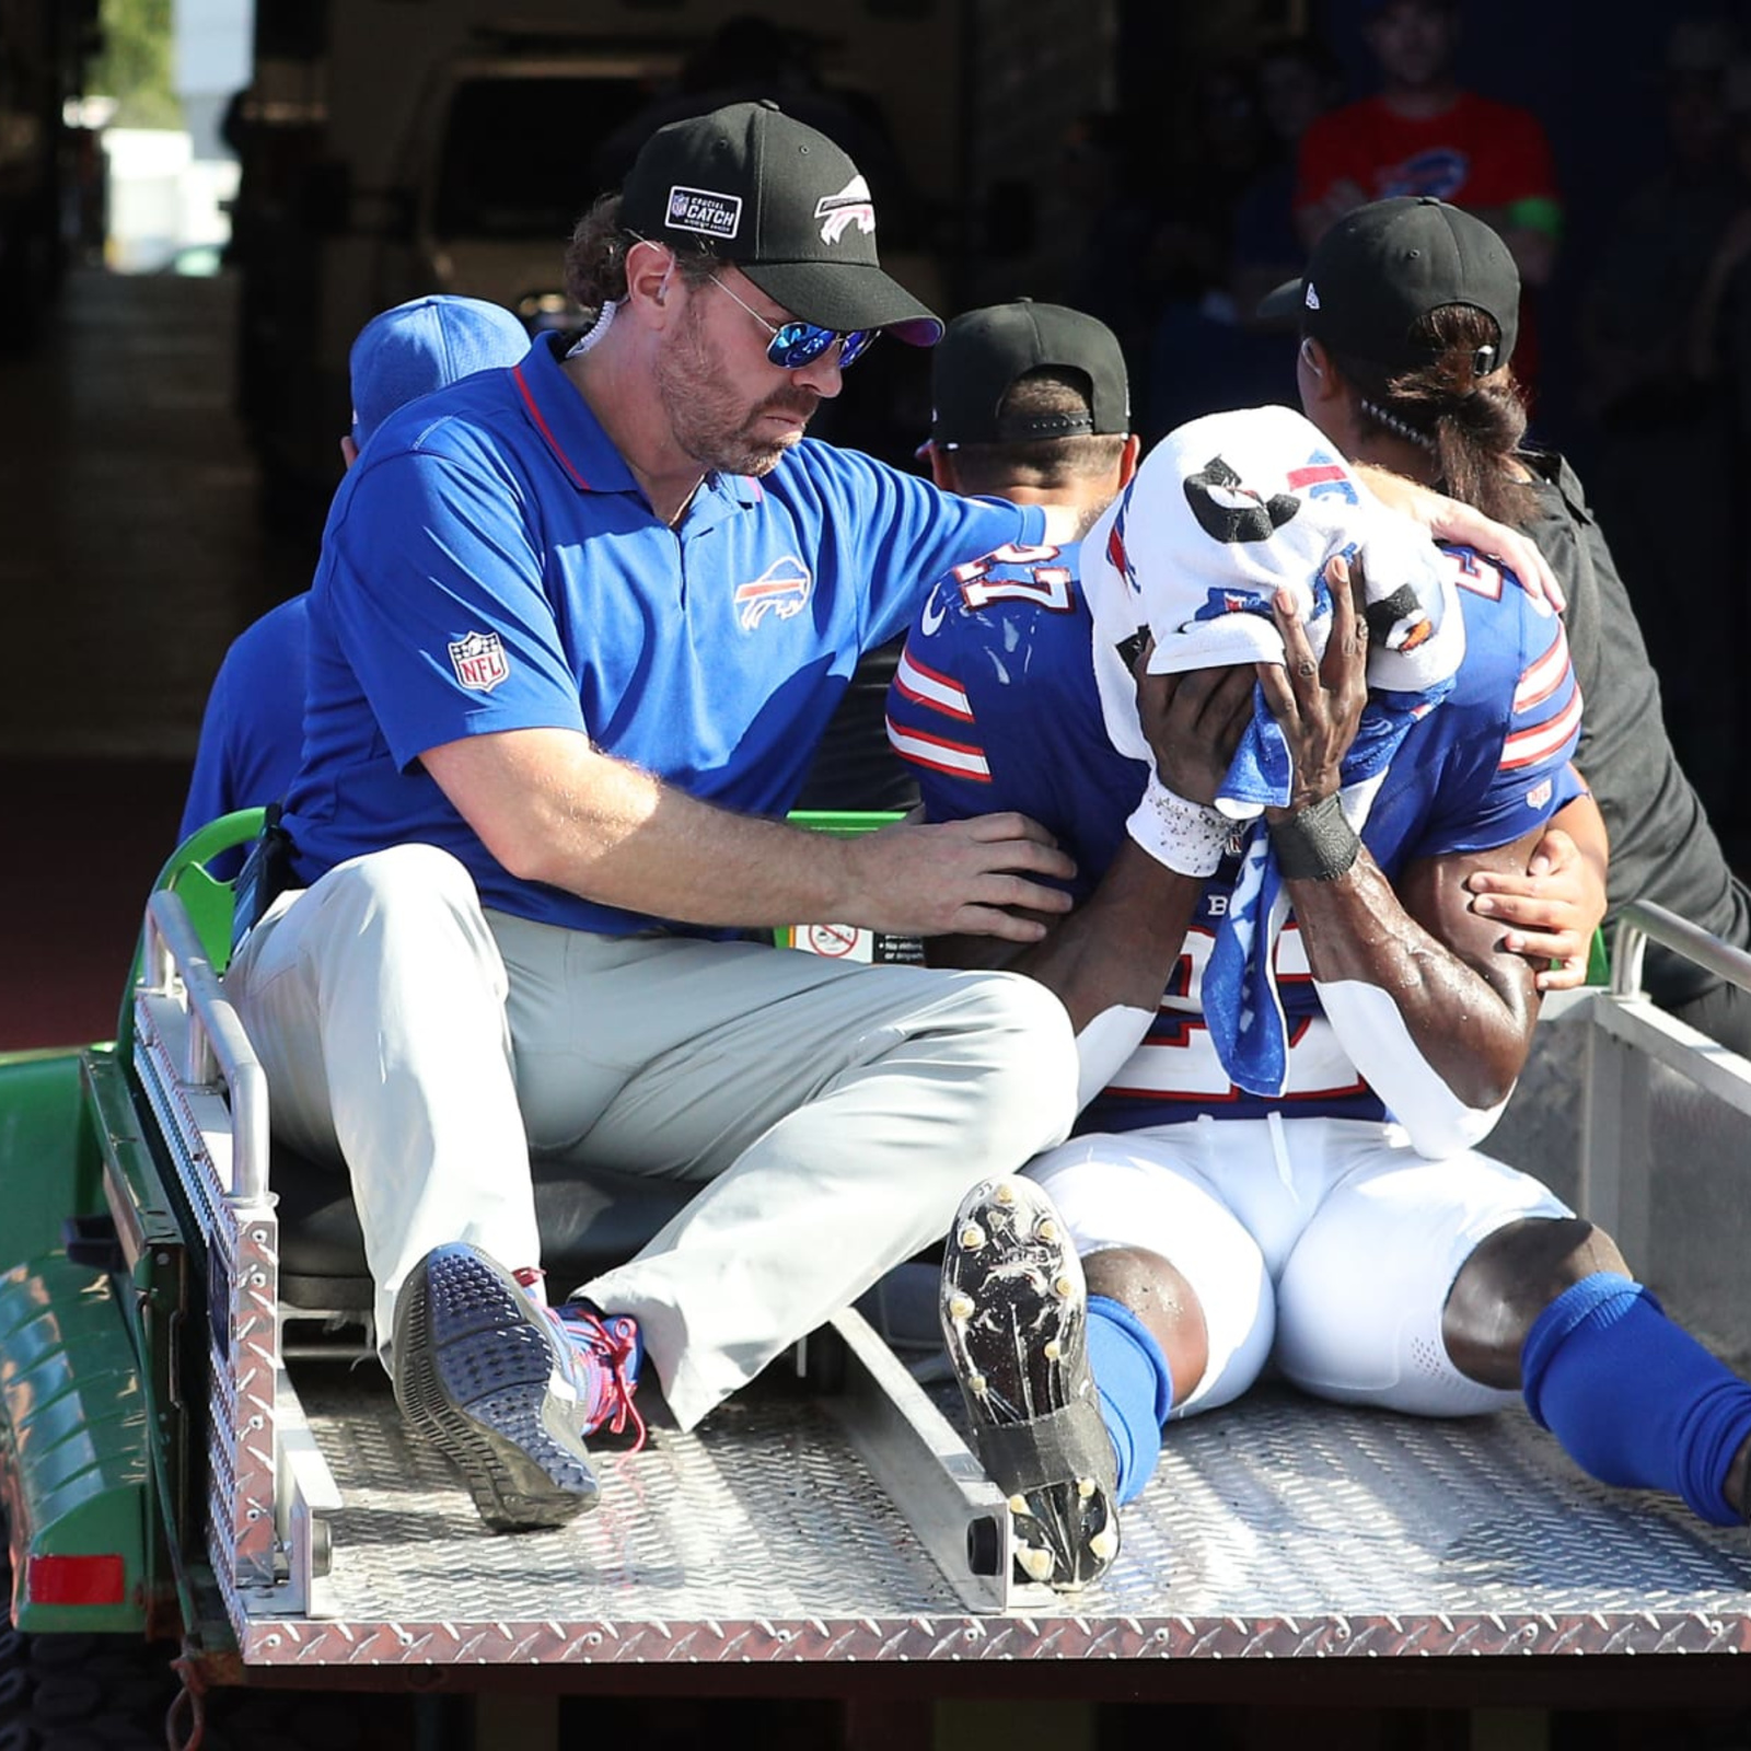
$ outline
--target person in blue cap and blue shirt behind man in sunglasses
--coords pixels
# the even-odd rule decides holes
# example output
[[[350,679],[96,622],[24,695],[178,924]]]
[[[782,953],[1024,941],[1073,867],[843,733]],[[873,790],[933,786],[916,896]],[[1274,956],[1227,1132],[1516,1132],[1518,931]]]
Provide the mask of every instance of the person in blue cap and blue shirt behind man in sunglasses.
[[[432,292],[371,317],[347,361],[352,431],[340,441],[347,468],[396,408],[473,371],[515,364],[527,350],[522,322],[480,298]],[[284,800],[305,737],[308,609],[303,590],[231,641],[201,714],[182,839],[233,809]],[[208,867],[229,877],[240,863],[242,853],[221,853]]]

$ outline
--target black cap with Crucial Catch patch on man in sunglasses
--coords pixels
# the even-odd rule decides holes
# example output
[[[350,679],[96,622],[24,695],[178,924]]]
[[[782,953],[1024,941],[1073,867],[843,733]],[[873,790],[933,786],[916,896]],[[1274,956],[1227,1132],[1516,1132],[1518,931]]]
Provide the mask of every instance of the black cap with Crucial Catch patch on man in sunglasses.
[[[876,207],[846,154],[770,98],[658,128],[620,191],[622,224],[734,263],[804,322],[933,347],[942,322],[888,278]]]

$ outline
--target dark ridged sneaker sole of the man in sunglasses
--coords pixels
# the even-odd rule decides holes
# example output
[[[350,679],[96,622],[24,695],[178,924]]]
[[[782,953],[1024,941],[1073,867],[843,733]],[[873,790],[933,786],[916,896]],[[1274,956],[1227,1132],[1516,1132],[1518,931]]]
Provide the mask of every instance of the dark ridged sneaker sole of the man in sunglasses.
[[[496,1532],[564,1525],[601,1495],[583,1406],[539,1320],[517,1278],[473,1247],[427,1254],[396,1297],[396,1403]]]

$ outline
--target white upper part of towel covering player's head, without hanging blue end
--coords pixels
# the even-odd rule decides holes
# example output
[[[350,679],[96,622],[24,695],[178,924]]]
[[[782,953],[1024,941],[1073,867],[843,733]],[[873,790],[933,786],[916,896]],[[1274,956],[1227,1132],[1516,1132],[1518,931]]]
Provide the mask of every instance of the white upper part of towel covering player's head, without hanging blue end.
[[[1128,639],[1156,639],[1156,674],[1282,662],[1271,601],[1289,588],[1315,651],[1331,632],[1326,564],[1361,555],[1371,688],[1422,693],[1453,676],[1464,622],[1427,531],[1387,510],[1289,408],[1212,413],[1168,432],[1082,545],[1107,734],[1149,760]]]

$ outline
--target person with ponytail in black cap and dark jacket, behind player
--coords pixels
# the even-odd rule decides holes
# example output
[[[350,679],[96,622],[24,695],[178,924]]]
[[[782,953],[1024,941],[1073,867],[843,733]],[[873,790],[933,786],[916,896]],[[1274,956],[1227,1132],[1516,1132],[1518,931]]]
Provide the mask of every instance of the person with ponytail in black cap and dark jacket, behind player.
[[[1481,219],[1404,198],[1334,226],[1306,275],[1278,287],[1261,315],[1299,320],[1301,404],[1345,455],[1520,525],[1555,567],[1586,700],[1576,765],[1609,832],[1607,925],[1627,900],[1648,898],[1751,947],[1751,893],[1672,751],[1604,532],[1569,462],[1522,443],[1525,406],[1509,366],[1518,298],[1513,257]],[[1478,904],[1518,921],[1522,884],[1492,877],[1485,888]],[[1751,996],[1737,986],[1658,944],[1648,946],[1646,981],[1663,1009],[1751,1054]]]

